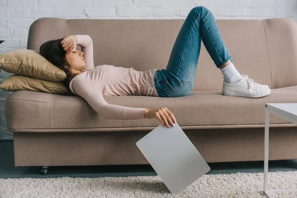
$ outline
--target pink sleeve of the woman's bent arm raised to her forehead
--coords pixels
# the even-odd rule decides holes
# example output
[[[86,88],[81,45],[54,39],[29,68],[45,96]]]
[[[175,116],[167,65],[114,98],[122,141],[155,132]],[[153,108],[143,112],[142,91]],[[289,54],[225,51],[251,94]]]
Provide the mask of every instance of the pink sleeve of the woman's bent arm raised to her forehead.
[[[81,72],[88,71],[94,68],[93,56],[93,40],[89,35],[73,35],[77,38],[77,45],[79,45],[84,52],[83,57],[86,61],[86,66],[80,70]]]

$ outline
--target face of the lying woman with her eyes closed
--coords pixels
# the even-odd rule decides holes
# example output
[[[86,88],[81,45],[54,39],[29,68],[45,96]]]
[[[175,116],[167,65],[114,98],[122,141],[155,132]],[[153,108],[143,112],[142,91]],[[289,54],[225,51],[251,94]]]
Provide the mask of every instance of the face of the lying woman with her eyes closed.
[[[66,59],[70,64],[72,73],[77,72],[73,70],[82,70],[86,66],[85,59],[83,59],[84,52],[77,49],[72,49],[72,52],[66,53]]]

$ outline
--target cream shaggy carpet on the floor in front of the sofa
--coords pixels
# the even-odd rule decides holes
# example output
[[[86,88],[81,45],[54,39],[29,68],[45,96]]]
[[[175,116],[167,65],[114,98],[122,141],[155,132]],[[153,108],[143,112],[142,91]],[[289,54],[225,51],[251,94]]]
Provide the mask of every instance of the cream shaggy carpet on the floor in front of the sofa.
[[[297,189],[297,171],[269,172],[268,178],[268,190]],[[0,179],[0,198],[265,198],[262,191],[263,173],[203,175],[179,194],[171,194],[158,176]]]

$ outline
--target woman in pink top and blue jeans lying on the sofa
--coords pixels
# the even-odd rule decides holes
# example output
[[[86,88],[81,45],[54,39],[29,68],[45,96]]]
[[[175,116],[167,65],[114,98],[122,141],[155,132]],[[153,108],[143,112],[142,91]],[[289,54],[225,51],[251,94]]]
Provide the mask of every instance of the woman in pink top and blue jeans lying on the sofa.
[[[166,69],[136,71],[134,68],[99,65],[94,67],[93,41],[88,35],[71,35],[51,40],[40,53],[65,71],[66,86],[85,99],[106,119],[156,118],[165,127],[176,119],[166,107],[148,109],[108,104],[103,96],[183,97],[191,94],[195,81],[201,40],[217,68],[223,74],[226,96],[259,98],[270,94],[267,85],[259,85],[241,75],[233,65],[213,14],[204,6],[194,7],[179,31]],[[82,51],[76,49],[79,45]],[[83,56],[84,55],[84,56]]]

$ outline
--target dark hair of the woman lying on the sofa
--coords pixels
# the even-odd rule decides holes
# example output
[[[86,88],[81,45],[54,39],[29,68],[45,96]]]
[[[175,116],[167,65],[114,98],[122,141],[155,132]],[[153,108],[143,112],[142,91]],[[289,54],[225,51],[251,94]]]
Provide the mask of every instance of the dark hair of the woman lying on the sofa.
[[[71,73],[71,67],[66,59],[66,51],[61,45],[63,39],[50,40],[41,45],[39,52],[51,64],[62,69],[66,73],[66,79],[63,80],[66,87],[69,89],[69,83],[77,74]]]

